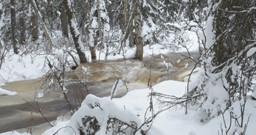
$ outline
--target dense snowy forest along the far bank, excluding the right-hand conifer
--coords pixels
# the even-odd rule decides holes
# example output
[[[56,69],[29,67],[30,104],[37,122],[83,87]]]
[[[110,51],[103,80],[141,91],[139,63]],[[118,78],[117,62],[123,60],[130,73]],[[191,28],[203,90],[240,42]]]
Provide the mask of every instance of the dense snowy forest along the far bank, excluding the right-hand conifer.
[[[182,0],[0,2],[1,44],[11,44],[15,54],[38,48],[49,52],[52,48],[72,47],[81,63],[87,62],[84,48],[90,50],[94,61],[95,50],[107,56],[113,53],[108,52],[110,47],[120,53],[122,47],[135,45],[136,59],[142,59],[143,45],[168,40],[170,33],[181,31],[173,23],[188,24],[193,12],[201,16],[207,5],[203,1]]]

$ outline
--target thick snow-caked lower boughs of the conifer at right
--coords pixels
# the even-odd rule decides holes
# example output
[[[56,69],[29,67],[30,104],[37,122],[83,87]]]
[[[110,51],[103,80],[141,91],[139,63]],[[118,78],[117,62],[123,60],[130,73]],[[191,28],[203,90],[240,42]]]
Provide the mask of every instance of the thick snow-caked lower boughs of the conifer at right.
[[[205,59],[205,64],[207,60],[209,59]],[[209,120],[221,114],[221,107],[229,106],[229,93],[224,88],[227,85],[224,73],[212,73],[209,64],[206,65],[207,67],[201,66],[196,80],[190,83],[189,88],[191,95],[204,95],[198,112],[201,113],[202,120]]]

